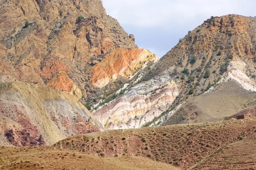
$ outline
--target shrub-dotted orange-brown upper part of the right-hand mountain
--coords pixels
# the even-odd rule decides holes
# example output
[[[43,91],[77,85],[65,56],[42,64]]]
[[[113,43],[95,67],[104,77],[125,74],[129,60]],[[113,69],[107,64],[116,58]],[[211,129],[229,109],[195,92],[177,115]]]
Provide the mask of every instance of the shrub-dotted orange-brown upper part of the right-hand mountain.
[[[230,64],[255,82],[252,77],[256,74],[255,32],[255,17],[235,14],[213,17],[189,32],[151,72],[154,75],[171,73],[176,77],[182,91],[181,100],[185,99],[191,87],[195,92],[189,98],[205,91],[209,82],[218,82]],[[185,79],[182,79],[184,68],[189,72],[184,73]],[[204,77],[207,69],[209,78]]]

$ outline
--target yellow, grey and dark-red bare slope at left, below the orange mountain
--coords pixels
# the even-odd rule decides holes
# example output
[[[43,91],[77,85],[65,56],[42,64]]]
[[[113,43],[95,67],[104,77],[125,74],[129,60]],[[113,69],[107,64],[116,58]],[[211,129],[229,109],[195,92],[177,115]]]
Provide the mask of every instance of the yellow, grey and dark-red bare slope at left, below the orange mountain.
[[[1,145],[49,145],[102,125],[70,94],[0,78]]]

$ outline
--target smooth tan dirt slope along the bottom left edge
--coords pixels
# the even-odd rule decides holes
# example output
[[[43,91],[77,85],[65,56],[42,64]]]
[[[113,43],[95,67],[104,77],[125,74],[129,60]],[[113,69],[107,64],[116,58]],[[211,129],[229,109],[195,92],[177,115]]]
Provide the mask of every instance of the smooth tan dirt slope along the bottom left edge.
[[[179,170],[142,157],[100,158],[54,147],[2,147],[0,158],[1,170]]]

